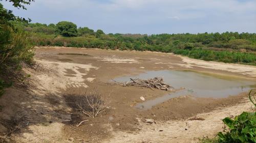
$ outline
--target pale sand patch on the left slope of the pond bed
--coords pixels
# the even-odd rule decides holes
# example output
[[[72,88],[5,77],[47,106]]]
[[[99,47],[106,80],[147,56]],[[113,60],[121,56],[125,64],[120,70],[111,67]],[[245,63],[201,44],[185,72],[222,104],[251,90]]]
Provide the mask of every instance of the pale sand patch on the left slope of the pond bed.
[[[49,74],[36,75],[39,80],[39,89],[47,89],[50,92],[55,92],[56,88],[65,90],[67,87],[84,87],[88,88],[85,83],[84,76],[88,74],[90,69],[98,69],[90,64],[77,64],[66,62],[51,62],[45,60],[35,60],[38,64],[44,65],[46,69],[53,70]],[[69,74],[72,71],[72,76]],[[92,80],[92,79],[90,79]]]

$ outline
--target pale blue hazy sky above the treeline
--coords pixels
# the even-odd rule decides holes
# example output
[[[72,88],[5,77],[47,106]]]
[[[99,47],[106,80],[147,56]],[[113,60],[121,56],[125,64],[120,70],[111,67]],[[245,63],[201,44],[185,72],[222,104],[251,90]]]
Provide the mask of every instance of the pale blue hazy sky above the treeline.
[[[0,2],[33,23],[71,21],[105,33],[256,33],[256,0],[35,0],[27,10]]]

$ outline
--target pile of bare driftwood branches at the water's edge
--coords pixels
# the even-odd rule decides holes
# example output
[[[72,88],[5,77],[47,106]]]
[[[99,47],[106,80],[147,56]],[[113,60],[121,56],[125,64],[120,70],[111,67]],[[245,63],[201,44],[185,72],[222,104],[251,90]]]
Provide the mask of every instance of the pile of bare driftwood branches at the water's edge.
[[[123,87],[127,87],[127,86],[138,86],[138,87],[144,87],[144,88],[150,88],[152,90],[154,89],[160,89],[160,90],[166,90],[166,91],[173,91],[172,88],[169,84],[166,84],[163,82],[163,78],[162,77],[155,77],[155,78],[148,78],[148,79],[139,79],[139,78],[135,78],[132,79],[128,82],[117,82],[115,80],[114,83],[110,83],[110,84],[119,84],[122,85]]]

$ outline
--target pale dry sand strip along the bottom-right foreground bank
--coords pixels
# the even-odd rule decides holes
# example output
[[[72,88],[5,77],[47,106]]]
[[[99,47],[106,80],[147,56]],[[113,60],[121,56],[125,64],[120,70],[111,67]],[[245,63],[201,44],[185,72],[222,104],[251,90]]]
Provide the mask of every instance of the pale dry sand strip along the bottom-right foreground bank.
[[[217,109],[196,116],[204,120],[167,121],[149,124],[138,119],[140,131],[136,134],[122,131],[113,132],[113,138],[104,142],[197,142],[197,138],[205,135],[214,137],[222,131],[222,119],[237,116],[243,111],[252,111],[251,103],[247,100],[236,106]],[[135,117],[134,117],[135,118]]]

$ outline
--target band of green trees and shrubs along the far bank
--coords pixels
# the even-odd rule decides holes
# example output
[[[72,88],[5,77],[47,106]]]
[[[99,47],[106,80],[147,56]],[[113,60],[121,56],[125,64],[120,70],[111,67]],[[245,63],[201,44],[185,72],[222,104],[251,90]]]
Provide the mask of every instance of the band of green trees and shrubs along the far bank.
[[[256,65],[256,34],[104,34],[102,30],[78,27],[61,21],[55,24],[18,23],[31,34],[37,46],[65,46],[138,51],[173,52],[194,59]]]

